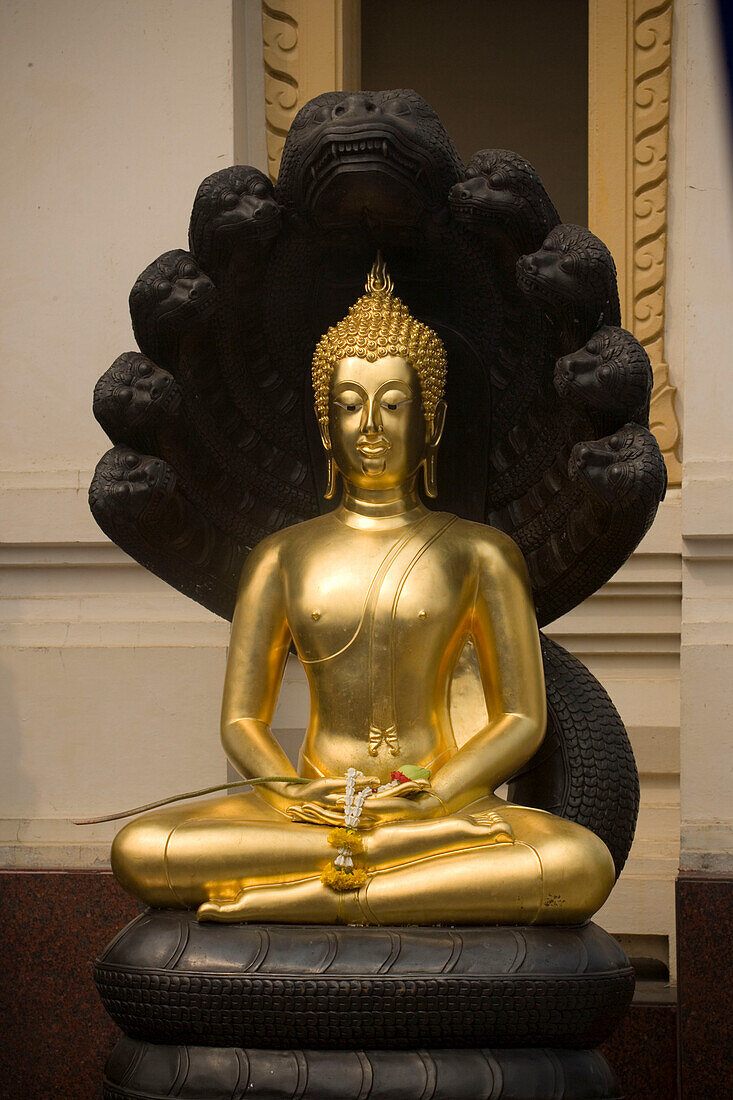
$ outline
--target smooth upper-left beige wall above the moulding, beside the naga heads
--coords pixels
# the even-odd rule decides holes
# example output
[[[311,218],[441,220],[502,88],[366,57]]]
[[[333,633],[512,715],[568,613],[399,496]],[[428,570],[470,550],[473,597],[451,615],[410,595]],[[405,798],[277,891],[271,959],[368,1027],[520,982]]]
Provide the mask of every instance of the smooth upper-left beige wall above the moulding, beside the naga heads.
[[[23,0],[2,24],[0,470],[88,469],[130,287],[232,160],[231,0]]]

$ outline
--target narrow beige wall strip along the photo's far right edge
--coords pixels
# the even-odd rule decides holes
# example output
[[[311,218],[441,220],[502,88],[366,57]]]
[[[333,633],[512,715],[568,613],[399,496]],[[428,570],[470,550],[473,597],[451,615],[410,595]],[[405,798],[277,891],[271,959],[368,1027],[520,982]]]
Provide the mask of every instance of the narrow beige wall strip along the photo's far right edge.
[[[680,12],[685,120],[678,186],[677,341],[685,355],[681,854],[733,871],[733,160],[712,0]]]

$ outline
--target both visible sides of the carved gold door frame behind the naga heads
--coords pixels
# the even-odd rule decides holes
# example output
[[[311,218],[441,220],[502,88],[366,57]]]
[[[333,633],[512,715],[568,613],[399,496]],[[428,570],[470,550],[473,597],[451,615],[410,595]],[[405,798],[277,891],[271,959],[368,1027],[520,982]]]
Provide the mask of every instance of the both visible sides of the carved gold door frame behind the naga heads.
[[[276,178],[296,112],[361,79],[360,0],[262,3],[267,164]],[[672,0],[589,0],[588,217],[619,270],[622,320],[654,369],[650,424],[680,482],[665,361]]]

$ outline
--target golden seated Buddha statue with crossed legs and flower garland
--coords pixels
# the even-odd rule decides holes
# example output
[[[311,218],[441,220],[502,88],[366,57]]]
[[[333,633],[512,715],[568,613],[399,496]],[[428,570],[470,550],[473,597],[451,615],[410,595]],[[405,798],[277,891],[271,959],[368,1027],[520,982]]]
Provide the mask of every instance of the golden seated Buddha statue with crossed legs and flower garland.
[[[527,573],[505,535],[420,499],[420,477],[436,495],[446,353],[381,261],[313,375],[341,501],[250,553],[221,716],[238,771],[283,779],[138,817],[114,840],[117,878],[199,920],[587,920],[614,882],[603,842],[493,793],[545,732]],[[291,644],[311,702],[299,773],[271,729]],[[485,703],[468,739],[450,708],[467,647]]]

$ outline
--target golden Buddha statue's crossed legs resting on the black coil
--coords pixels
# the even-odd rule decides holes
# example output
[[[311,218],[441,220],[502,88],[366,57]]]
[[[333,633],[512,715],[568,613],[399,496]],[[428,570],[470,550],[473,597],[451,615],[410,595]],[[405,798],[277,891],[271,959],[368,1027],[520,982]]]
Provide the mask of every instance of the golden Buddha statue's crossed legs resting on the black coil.
[[[481,823],[497,806],[514,843],[495,843]],[[303,924],[571,924],[600,909],[614,881],[592,833],[493,798],[366,832],[369,880],[359,891],[320,881],[335,855],[328,832],[289,822],[256,794],[207,800],[131,822],[116,838],[112,868],[152,905],[198,908],[201,920]]]

